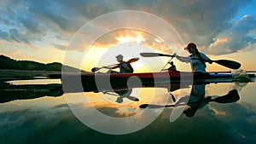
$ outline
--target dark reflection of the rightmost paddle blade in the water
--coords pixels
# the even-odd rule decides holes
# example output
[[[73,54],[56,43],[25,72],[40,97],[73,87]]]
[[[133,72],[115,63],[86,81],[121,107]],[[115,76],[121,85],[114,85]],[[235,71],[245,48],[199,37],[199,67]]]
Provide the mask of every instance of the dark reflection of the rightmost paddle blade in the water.
[[[239,99],[240,99],[240,97],[238,95],[237,90],[233,89],[229,92],[229,94],[217,97],[211,101],[215,101],[218,103],[232,103],[232,102],[238,101]]]

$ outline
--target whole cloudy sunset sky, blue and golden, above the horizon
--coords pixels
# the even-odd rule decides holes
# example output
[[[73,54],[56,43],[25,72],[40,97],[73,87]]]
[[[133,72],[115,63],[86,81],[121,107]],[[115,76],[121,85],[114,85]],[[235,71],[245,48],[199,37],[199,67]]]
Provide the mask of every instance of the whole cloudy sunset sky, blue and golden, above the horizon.
[[[212,60],[236,60],[241,62],[242,69],[256,70],[255,6],[256,0],[1,0],[0,54],[15,60],[62,63],[67,52],[74,55],[85,53],[87,48],[75,43],[73,37],[91,20],[116,11],[136,10],[166,21],[177,32],[175,35],[182,39],[184,45],[172,43],[175,49],[168,49],[170,45],[166,43],[177,42],[169,35],[172,41],[166,42],[167,37],[143,32],[140,28],[137,30],[137,27],[131,30],[119,29],[104,33],[91,43],[83,66],[73,65],[71,60],[67,64],[90,71],[91,66],[96,65],[108,49],[116,49],[117,45],[124,45],[122,43],[126,42],[129,43],[125,49],[130,45],[134,51],[139,47],[140,52],[147,51],[148,48],[170,55],[177,52],[185,56],[188,54],[180,51],[186,43],[194,42]],[[140,23],[132,15],[120,18],[123,19],[129,23]],[[125,20],[122,21],[124,25]],[[141,20],[148,22],[144,17]],[[152,25],[157,26],[157,22],[154,21]],[[112,23],[114,25],[115,21]],[[100,30],[104,26],[102,24],[96,27]],[[160,31],[164,32],[164,28]],[[86,34],[90,36],[91,33],[94,32],[85,32],[80,38],[90,38]],[[77,49],[67,49],[70,43],[77,44]],[[133,54],[123,55],[128,58],[139,56],[136,52]],[[102,60],[107,60],[106,65],[111,65],[115,62],[114,55],[108,56],[109,60],[106,55]],[[154,62],[151,64],[159,65]],[[207,70],[229,71],[216,64],[208,65]]]

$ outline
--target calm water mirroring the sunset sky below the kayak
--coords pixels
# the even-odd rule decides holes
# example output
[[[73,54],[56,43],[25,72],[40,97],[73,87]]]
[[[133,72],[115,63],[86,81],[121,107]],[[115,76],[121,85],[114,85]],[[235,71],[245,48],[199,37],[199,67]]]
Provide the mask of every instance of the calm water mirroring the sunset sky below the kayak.
[[[40,84],[41,83],[41,84]],[[190,107],[196,107],[193,116],[183,113],[174,122],[170,122],[173,107],[147,108],[140,105],[150,103],[154,89],[134,89],[131,95],[138,96],[140,101],[131,97],[102,93],[73,93],[63,95],[60,83],[54,81],[18,81],[4,85],[1,90],[0,103],[0,143],[242,143],[251,144],[256,141],[256,83],[206,84],[197,88],[205,88],[205,96],[201,102],[196,98],[189,99]],[[43,84],[42,84],[43,83]],[[191,88],[191,86],[190,86]],[[4,90],[3,90],[4,89]],[[237,99],[227,95],[230,90],[237,89],[240,95]],[[172,92],[175,98],[181,94],[180,89]],[[161,95],[166,95],[165,89],[160,89],[156,101]],[[209,97],[211,96],[211,98]],[[217,99],[223,96],[221,100]],[[165,97],[165,96],[163,96]],[[169,95],[168,104],[173,100]],[[208,97],[208,99],[207,99]],[[87,102],[75,102],[88,98]],[[119,99],[118,99],[119,98]],[[121,99],[121,100],[120,100]],[[212,99],[213,101],[207,101]],[[90,119],[90,124],[84,124],[77,118],[73,110],[80,110],[82,117]],[[197,105],[198,104],[198,105]],[[111,118],[123,118],[122,124],[108,121],[108,118],[93,119],[90,107],[95,107]],[[183,106],[180,106],[183,107]],[[188,107],[187,107],[188,108]],[[147,118],[160,113],[152,123]],[[134,117],[136,116],[136,117]],[[127,119],[128,118],[128,119]],[[129,119],[131,118],[131,119]],[[146,119],[146,120],[145,120]],[[86,121],[85,120],[85,121]],[[129,123],[133,120],[132,124]],[[104,130],[133,129],[134,125],[143,127],[126,135],[109,135],[95,130],[96,124],[106,126]],[[142,126],[143,125],[143,126]],[[109,127],[108,127],[109,126]]]

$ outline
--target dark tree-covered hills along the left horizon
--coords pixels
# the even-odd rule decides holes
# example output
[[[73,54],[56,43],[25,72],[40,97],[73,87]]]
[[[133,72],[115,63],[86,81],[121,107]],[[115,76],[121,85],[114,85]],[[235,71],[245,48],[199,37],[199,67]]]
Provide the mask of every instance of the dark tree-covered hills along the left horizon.
[[[8,56],[0,55],[0,69],[61,72],[62,64],[59,62],[44,64],[32,60],[13,60]],[[72,66],[63,66],[63,70],[65,72],[80,72],[79,69]]]

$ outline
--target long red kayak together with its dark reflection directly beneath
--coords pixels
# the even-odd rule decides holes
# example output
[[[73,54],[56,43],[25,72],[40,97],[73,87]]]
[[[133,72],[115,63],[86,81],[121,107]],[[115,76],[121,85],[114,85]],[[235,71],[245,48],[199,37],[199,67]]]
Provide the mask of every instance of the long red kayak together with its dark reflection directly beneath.
[[[61,78],[61,83],[78,83],[83,85],[84,92],[102,91],[106,89],[128,89],[141,87],[169,87],[174,84],[208,84],[218,82],[234,82],[231,72],[166,72],[144,73],[62,73],[50,74],[49,78]],[[254,78],[248,74],[247,78]],[[127,85],[128,83],[128,85]],[[75,90],[74,90],[75,91]],[[71,89],[72,92],[72,89]]]

